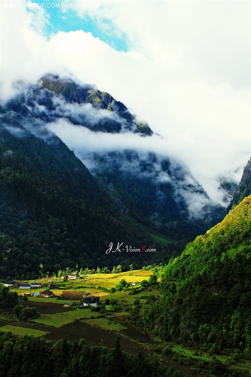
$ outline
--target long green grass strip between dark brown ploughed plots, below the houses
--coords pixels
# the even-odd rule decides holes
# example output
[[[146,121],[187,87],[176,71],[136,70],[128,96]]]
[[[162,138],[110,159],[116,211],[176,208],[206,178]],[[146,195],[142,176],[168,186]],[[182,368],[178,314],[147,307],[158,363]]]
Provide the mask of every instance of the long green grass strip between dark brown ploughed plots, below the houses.
[[[100,316],[100,314],[97,312],[92,312],[89,309],[79,309],[64,313],[41,314],[41,316],[34,319],[33,322],[43,323],[44,325],[48,326],[61,327],[78,319],[87,319],[98,316]]]

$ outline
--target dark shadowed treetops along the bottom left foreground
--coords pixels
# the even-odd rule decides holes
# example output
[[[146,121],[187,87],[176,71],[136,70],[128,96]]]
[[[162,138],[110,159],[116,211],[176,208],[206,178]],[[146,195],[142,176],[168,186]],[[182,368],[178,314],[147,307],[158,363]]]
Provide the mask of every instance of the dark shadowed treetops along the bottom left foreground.
[[[114,348],[88,347],[67,340],[57,342],[28,336],[1,334],[1,377],[182,377],[174,369],[166,369],[156,360],[141,353],[121,351],[119,338]]]

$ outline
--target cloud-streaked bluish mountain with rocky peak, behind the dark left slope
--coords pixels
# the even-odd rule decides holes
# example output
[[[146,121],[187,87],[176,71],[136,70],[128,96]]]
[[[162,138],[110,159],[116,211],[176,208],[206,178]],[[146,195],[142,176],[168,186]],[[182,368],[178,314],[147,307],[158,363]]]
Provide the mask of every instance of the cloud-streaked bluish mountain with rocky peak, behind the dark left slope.
[[[139,136],[137,142],[141,144],[143,137],[146,140],[153,138],[154,134],[149,125],[138,121],[126,106],[92,85],[77,85],[58,76],[42,77],[42,86],[47,89],[42,97],[50,96],[54,104],[48,107],[46,102],[47,115],[52,124],[56,122],[57,129],[59,124],[60,129],[70,127],[73,134],[76,132],[73,125],[88,129],[82,137],[90,139],[90,143],[83,142],[82,147],[80,142],[77,146],[73,143],[72,149],[91,173],[116,196],[122,213],[145,224],[154,224],[167,235],[173,229],[176,229],[175,232],[180,230],[190,239],[223,218],[223,208],[212,203],[184,163],[130,146],[133,135]],[[38,102],[37,95],[30,93],[29,101],[34,108]],[[71,126],[58,121],[62,117]],[[53,126],[48,128],[55,131]],[[111,143],[115,135],[119,135],[116,142],[122,141],[124,147]],[[63,141],[69,142],[68,135]],[[97,148],[98,143],[101,143],[101,151]],[[109,143],[112,145],[107,147]],[[103,144],[106,144],[104,148]]]

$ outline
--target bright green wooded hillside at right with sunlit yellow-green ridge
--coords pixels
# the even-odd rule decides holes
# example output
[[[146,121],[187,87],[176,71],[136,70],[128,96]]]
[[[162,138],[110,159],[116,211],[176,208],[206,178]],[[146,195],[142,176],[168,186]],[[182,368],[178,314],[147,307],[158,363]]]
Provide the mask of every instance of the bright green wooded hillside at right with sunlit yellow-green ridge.
[[[170,260],[143,323],[211,353],[250,356],[251,196]]]

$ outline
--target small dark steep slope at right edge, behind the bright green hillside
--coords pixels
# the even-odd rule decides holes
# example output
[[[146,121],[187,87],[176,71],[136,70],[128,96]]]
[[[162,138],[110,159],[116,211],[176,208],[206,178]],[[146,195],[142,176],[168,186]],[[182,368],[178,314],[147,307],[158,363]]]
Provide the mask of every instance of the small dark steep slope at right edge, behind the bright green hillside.
[[[239,185],[237,186],[233,198],[227,208],[227,213],[248,195],[251,195],[251,158],[244,167]]]

